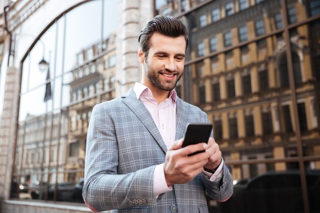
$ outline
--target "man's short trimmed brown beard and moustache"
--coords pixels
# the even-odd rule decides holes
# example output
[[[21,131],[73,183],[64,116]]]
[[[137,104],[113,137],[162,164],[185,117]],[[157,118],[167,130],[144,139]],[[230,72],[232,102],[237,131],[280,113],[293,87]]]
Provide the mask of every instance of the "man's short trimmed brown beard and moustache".
[[[164,73],[164,69],[155,70],[148,63],[145,64],[145,73],[149,81],[158,89],[171,91],[177,85],[177,82],[182,77],[183,73],[175,74],[173,80],[166,80],[161,77],[161,73]],[[166,70],[166,73],[172,73],[169,70]]]

